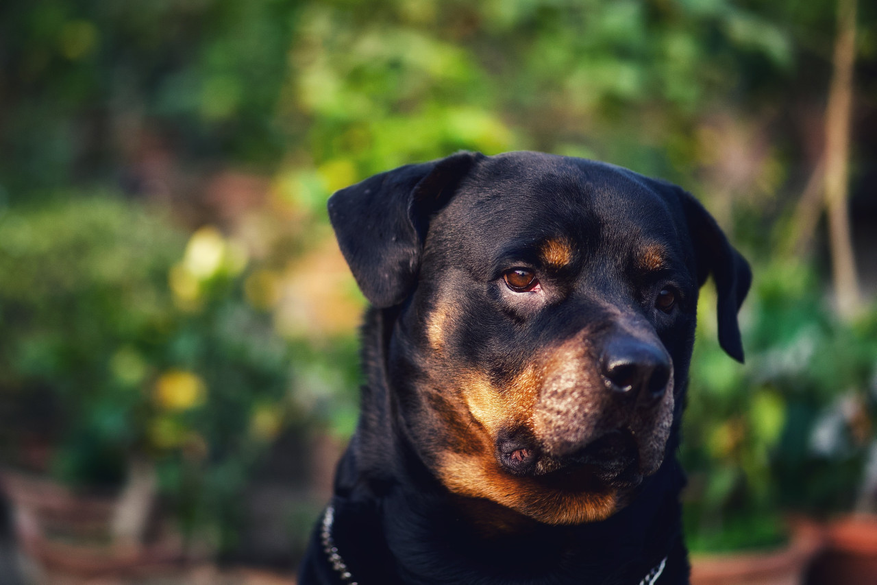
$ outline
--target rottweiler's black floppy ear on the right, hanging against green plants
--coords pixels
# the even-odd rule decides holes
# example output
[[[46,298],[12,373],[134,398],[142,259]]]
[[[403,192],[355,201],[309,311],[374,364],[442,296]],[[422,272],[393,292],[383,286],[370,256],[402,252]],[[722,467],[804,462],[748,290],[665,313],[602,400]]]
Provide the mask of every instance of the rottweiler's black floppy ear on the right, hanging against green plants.
[[[688,234],[695,246],[697,284],[703,285],[709,274],[716,281],[718,343],[731,358],[743,363],[737,312],[752,284],[749,263],[731,247],[721,227],[700,202],[690,193],[677,189],[688,222]]]

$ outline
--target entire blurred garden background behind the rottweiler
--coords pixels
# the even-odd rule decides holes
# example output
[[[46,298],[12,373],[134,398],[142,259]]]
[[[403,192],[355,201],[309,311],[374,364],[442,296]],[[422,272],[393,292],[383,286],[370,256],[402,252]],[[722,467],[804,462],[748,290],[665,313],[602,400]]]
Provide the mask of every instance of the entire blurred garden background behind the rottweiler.
[[[702,293],[698,582],[877,582],[877,4],[7,0],[0,71],[3,583],[292,582],[361,383],[325,200],[460,148],[702,200],[755,281],[744,366]]]

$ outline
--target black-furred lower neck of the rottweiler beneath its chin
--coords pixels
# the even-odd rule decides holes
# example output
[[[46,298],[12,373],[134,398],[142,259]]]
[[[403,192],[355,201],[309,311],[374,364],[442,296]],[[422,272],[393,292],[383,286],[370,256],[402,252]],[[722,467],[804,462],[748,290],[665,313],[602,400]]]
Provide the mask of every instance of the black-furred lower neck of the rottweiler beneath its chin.
[[[356,582],[639,583],[662,560],[660,583],[685,582],[678,466],[652,478],[645,497],[601,523],[531,524],[530,531],[475,532],[476,508],[401,484],[378,499],[333,500],[332,545]],[[477,504],[476,504],[477,505]],[[656,543],[660,545],[656,546]],[[645,555],[645,551],[650,551]]]

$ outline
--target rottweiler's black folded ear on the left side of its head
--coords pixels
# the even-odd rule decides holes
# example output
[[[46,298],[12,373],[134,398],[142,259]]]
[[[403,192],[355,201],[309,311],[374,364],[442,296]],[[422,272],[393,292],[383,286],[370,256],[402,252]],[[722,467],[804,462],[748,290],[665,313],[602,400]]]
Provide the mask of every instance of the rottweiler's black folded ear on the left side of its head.
[[[453,195],[481,153],[460,152],[369,177],[329,198],[329,220],[341,253],[366,298],[393,307],[417,283],[432,213]]]

